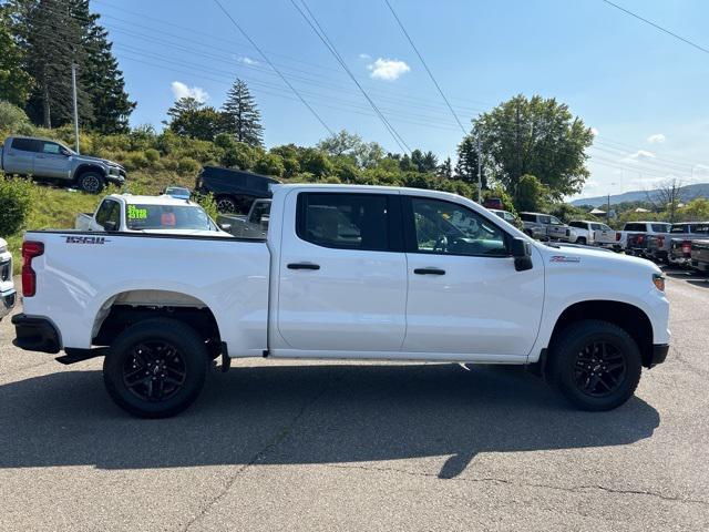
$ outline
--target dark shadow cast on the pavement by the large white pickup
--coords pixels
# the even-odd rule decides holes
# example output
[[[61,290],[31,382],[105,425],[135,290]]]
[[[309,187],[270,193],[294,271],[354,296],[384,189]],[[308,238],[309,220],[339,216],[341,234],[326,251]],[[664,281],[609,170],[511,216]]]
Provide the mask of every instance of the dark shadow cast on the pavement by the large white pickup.
[[[199,399],[164,420],[130,417],[100,371],[0,386],[0,468],[308,464],[439,457],[453,478],[481,452],[625,446],[659,415],[633,398],[580,412],[515,367],[297,365],[212,372]],[[446,458],[450,457],[450,458]]]

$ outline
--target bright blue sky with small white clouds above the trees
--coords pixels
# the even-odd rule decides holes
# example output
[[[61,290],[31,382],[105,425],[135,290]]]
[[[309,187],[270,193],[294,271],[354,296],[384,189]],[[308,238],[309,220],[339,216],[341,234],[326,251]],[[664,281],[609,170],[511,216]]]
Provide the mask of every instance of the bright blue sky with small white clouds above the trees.
[[[462,133],[383,0],[306,0],[354,75],[412,149],[452,155]],[[467,127],[516,93],[554,96],[597,131],[580,196],[709,182],[709,54],[602,0],[390,0]],[[222,0],[332,130],[400,151],[290,0]],[[709,47],[702,0],[617,0]],[[196,7],[198,6],[198,7]],[[315,144],[323,126],[212,0],[93,0],[127,90],[132,124],[176,95],[222,105],[236,76],[257,99],[267,146]]]

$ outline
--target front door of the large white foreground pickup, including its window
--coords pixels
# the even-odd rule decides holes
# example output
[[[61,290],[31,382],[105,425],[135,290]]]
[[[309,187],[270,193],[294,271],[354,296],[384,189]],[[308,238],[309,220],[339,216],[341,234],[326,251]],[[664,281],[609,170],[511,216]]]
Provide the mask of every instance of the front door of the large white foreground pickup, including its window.
[[[516,272],[511,237],[491,219],[438,198],[402,201],[409,272],[403,350],[528,355],[544,301],[541,259]]]

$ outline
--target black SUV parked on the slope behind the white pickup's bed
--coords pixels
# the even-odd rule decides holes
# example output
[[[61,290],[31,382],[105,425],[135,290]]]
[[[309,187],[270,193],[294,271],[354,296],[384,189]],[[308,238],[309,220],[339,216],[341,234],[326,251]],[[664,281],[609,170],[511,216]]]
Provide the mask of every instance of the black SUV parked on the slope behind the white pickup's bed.
[[[214,194],[220,213],[248,213],[254,200],[269,198],[271,186],[280,183],[244,170],[205,166],[195,183],[199,194]]]

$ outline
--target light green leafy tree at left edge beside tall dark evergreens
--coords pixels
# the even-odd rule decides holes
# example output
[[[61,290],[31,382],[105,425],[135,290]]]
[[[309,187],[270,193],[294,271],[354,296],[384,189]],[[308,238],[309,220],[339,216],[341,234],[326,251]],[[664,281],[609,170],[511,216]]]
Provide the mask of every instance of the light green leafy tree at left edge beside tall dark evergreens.
[[[10,24],[10,6],[0,6],[0,100],[23,108],[32,89],[32,76],[23,70],[24,53]]]

